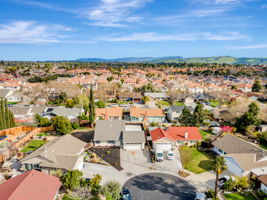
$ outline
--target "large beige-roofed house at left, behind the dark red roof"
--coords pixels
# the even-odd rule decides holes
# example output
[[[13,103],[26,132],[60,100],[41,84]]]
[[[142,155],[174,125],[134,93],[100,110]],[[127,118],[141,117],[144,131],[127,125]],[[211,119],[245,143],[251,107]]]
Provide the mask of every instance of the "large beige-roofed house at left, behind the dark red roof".
[[[85,146],[85,142],[69,134],[55,138],[23,158],[22,170],[38,169],[48,173],[56,169],[80,170]]]

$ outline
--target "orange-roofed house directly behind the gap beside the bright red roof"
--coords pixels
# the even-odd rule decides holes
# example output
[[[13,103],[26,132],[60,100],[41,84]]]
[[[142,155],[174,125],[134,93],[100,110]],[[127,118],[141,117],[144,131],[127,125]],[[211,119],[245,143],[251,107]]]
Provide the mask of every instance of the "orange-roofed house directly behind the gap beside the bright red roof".
[[[130,120],[132,122],[163,122],[165,114],[160,108],[130,108]]]

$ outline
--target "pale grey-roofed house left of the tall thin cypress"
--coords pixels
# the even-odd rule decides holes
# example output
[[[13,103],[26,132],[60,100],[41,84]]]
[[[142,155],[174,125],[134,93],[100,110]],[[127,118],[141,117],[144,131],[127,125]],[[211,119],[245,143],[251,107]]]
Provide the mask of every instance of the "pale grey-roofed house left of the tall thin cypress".
[[[65,107],[48,107],[44,111],[44,117],[52,119],[56,116],[63,116],[70,121],[75,121],[83,112],[81,108],[65,108]]]

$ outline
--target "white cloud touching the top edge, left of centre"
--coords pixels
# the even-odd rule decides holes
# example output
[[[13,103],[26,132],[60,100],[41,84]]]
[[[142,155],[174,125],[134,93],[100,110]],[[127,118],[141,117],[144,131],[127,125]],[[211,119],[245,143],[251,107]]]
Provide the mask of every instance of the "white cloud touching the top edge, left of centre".
[[[95,26],[124,27],[128,23],[139,22],[140,16],[132,14],[152,0],[102,0],[98,7],[89,8],[82,16],[89,19]]]

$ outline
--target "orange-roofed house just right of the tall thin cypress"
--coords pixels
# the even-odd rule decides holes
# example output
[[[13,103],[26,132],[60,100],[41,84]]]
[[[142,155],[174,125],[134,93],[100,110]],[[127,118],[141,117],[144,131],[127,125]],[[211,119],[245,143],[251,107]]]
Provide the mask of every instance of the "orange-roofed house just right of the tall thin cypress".
[[[96,120],[122,120],[123,109],[119,107],[96,108]]]

